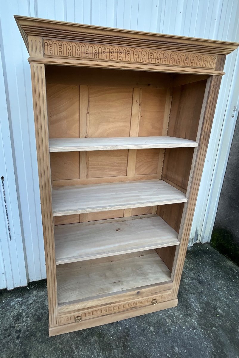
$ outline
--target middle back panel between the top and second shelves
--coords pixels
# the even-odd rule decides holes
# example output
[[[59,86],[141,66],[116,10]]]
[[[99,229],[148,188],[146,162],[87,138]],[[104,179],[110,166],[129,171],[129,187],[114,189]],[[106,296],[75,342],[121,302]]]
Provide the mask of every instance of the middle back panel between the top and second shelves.
[[[88,155],[88,178],[127,174],[128,150],[90,151]]]

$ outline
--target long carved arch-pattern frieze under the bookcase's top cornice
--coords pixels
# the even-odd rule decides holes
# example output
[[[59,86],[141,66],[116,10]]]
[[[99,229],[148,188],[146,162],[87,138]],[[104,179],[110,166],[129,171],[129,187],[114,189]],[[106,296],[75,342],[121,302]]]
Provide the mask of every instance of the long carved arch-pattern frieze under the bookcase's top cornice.
[[[154,50],[82,42],[43,40],[45,57],[71,57],[95,60],[163,64],[215,69],[217,55]]]

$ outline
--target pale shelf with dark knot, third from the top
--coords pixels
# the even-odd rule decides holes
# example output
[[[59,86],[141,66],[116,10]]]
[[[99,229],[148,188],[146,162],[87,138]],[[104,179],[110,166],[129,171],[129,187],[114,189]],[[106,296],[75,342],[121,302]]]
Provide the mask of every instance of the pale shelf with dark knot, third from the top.
[[[158,215],[55,226],[56,264],[179,245],[178,234]]]

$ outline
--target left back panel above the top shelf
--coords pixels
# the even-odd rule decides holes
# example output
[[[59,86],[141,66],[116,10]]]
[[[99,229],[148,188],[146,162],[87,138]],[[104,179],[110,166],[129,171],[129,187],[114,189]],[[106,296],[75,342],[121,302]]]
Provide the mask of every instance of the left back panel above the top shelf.
[[[49,138],[79,138],[79,86],[47,84]]]

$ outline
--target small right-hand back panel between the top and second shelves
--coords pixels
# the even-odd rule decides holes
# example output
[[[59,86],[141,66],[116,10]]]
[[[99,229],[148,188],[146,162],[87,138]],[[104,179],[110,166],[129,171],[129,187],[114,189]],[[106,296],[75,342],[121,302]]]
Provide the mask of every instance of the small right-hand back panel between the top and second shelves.
[[[135,175],[156,174],[159,149],[138,149],[136,155]]]

